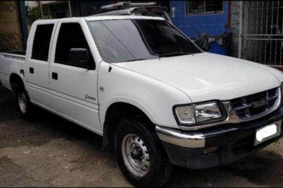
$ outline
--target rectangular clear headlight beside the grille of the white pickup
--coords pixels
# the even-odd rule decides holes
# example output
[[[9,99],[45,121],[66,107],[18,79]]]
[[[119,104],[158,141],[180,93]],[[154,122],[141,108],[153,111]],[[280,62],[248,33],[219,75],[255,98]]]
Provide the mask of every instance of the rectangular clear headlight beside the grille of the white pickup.
[[[174,114],[179,124],[203,124],[226,118],[222,106],[216,101],[176,106]]]

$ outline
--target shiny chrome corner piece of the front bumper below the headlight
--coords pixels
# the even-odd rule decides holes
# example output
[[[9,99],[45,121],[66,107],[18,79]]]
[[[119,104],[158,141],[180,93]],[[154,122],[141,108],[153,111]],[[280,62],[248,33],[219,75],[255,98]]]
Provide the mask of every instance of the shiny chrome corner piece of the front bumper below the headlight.
[[[157,135],[161,141],[166,141],[174,145],[199,148],[205,146],[205,136],[201,133],[182,133],[181,130],[155,126]]]

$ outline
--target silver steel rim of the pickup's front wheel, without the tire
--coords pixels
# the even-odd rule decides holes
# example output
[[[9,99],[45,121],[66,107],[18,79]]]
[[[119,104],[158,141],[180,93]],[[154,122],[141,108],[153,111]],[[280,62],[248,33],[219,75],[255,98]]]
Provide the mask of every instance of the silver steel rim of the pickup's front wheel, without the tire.
[[[143,177],[147,174],[149,154],[140,137],[135,134],[126,135],[122,141],[122,155],[125,165],[133,175]]]

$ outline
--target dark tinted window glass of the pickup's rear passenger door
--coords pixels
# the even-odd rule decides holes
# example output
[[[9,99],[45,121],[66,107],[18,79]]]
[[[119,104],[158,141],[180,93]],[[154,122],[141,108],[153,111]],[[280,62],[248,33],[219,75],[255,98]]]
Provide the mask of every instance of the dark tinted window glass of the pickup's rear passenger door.
[[[32,59],[48,60],[49,46],[54,24],[37,25],[32,45]]]

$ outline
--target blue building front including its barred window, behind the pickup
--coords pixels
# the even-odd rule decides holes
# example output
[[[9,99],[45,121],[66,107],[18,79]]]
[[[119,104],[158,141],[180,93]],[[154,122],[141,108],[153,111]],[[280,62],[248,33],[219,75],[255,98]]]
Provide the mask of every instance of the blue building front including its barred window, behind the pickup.
[[[219,35],[229,27],[228,1],[170,1],[170,15],[174,25],[191,39],[203,32]]]

